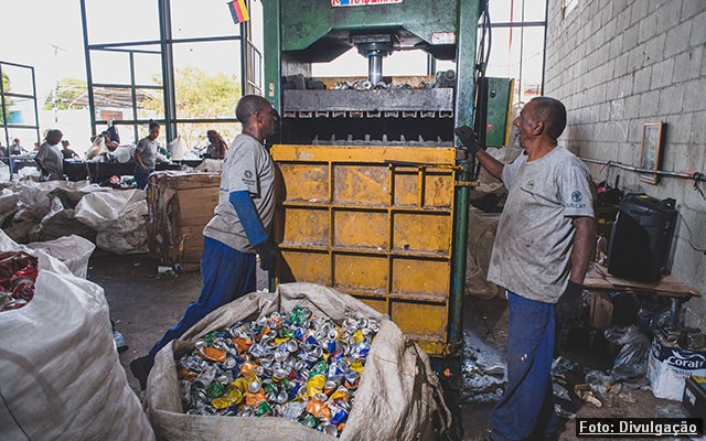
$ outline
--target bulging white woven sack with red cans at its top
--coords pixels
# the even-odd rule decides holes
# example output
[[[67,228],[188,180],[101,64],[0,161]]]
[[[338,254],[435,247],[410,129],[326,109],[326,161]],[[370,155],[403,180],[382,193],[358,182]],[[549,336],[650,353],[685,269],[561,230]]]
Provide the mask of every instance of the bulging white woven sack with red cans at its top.
[[[0,233],[0,250],[19,248]],[[118,361],[103,288],[32,252],[34,298],[0,312],[0,439],[153,440]]]

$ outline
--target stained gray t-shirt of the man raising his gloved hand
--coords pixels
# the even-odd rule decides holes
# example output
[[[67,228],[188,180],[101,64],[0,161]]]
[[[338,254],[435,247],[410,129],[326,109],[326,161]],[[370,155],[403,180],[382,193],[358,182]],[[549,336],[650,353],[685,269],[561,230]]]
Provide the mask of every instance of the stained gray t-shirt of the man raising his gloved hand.
[[[500,216],[488,280],[531,300],[556,303],[568,283],[571,216],[593,217],[586,164],[563,147],[502,174],[507,202]]]

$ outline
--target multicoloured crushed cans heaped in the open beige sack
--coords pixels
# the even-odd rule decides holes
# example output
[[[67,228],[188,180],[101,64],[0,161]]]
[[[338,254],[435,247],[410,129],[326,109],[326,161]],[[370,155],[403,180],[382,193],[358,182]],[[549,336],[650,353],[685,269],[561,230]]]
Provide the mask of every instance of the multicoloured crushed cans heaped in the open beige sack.
[[[176,364],[189,415],[281,417],[338,437],[379,329],[307,306],[213,331]]]

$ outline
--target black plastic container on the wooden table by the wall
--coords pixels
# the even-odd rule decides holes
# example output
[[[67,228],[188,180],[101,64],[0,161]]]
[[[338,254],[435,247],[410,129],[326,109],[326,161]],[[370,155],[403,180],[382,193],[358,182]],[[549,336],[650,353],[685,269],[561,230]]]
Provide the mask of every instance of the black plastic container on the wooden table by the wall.
[[[664,272],[677,212],[675,201],[628,194],[619,205],[608,244],[608,272],[654,281]]]

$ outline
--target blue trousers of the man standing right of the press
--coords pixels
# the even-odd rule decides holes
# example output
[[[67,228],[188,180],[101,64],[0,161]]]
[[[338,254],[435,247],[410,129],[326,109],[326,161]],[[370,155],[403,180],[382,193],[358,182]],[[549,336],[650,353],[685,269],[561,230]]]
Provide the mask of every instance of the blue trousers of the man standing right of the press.
[[[491,415],[491,439],[556,439],[558,420],[552,392],[554,304],[507,291],[507,387]]]

